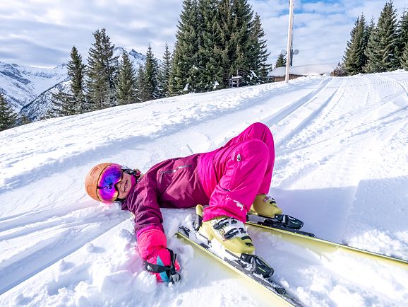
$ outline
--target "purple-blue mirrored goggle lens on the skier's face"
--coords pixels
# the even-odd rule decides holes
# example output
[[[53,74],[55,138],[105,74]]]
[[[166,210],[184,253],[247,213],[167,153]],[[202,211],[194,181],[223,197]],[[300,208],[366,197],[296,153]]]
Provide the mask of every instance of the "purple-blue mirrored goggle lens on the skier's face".
[[[123,172],[119,164],[112,163],[104,169],[97,182],[97,195],[102,202],[114,202],[119,196],[116,183],[122,180]]]

